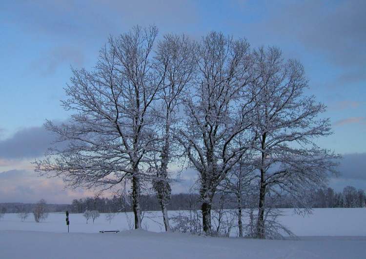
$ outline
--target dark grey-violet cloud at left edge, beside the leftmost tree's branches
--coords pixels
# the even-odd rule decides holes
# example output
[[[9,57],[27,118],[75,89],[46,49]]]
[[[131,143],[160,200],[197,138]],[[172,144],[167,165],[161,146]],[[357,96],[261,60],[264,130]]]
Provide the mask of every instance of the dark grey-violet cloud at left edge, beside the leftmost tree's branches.
[[[21,129],[10,138],[0,140],[0,159],[39,157],[53,140],[54,135],[43,126]]]

